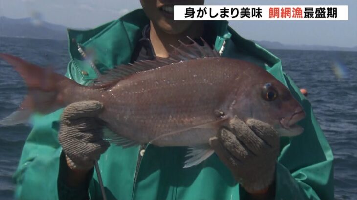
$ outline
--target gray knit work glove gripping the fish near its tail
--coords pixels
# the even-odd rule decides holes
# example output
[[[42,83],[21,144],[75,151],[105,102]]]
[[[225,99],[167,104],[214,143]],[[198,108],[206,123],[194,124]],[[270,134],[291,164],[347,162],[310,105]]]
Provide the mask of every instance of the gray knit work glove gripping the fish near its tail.
[[[104,153],[109,142],[102,139],[102,125],[96,117],[103,105],[83,101],[68,105],[61,116],[58,140],[71,169],[89,170]]]

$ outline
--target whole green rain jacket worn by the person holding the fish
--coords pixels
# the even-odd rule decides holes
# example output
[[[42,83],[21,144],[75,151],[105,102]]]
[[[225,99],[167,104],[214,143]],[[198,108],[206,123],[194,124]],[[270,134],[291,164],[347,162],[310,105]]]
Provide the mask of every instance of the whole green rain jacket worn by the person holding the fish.
[[[149,23],[144,12],[135,10],[118,20],[92,30],[69,30],[71,61],[66,76],[86,84],[96,73],[78,52],[94,48],[99,71],[130,61],[142,28]],[[248,60],[265,68],[285,84],[303,105],[306,118],[299,122],[305,131],[293,138],[281,138],[281,153],[276,167],[276,200],[333,200],[333,155],[315,119],[309,101],[282,71],[281,60],[239,36],[226,21],[212,22],[217,38],[215,48],[224,57]],[[75,94],[74,94],[75,95]],[[19,167],[14,174],[15,196],[26,200],[57,200],[59,157],[57,139],[61,110],[34,116],[34,126],[24,145]],[[203,163],[182,168],[185,147],[148,145],[136,170],[139,146],[123,149],[111,145],[100,157],[99,166],[109,200],[243,200],[246,192],[214,154]],[[136,174],[136,181],[134,176]],[[97,175],[89,183],[91,199],[101,199]],[[69,197],[68,197],[69,198]]]

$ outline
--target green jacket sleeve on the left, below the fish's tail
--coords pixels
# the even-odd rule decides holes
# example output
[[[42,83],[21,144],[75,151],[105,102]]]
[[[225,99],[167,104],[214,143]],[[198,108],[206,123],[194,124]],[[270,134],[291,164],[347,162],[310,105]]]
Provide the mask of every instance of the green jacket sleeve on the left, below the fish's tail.
[[[68,64],[66,76],[73,78]],[[58,142],[58,120],[62,109],[45,116],[33,116],[33,128],[22,150],[19,166],[13,176],[16,183],[15,199],[58,200],[88,197],[88,186],[70,188],[62,181],[60,166],[62,147]],[[92,177],[89,177],[89,180]],[[89,182],[88,180],[88,182]]]

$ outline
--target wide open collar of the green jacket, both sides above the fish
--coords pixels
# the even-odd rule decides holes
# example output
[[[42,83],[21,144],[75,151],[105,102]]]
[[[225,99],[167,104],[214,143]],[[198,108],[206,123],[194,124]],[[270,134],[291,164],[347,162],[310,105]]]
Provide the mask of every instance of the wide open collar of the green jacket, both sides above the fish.
[[[148,23],[149,19],[143,10],[137,9],[94,29],[68,29],[69,54],[77,74],[81,75],[79,78],[92,80],[98,73],[129,63],[135,45],[142,37],[142,30]],[[254,42],[242,38],[228,26],[227,21],[207,23],[216,31],[215,49],[223,52],[223,56],[225,52],[245,52],[264,60],[267,69],[275,65],[281,68],[280,59]]]

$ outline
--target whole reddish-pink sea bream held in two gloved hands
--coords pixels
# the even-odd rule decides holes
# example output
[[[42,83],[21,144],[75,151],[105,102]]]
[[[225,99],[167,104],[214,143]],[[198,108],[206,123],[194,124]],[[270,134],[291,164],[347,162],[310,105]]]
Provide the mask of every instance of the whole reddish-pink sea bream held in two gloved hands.
[[[117,66],[86,86],[1,53],[26,82],[28,94],[0,123],[25,123],[33,113],[95,100],[104,105],[98,118],[112,132],[109,141],[124,148],[187,146],[184,167],[210,157],[209,139],[235,116],[268,123],[280,136],[303,132],[297,122],[305,112],[279,80],[253,63],[221,57],[203,39],[203,45],[191,41],[173,46],[168,58]]]

